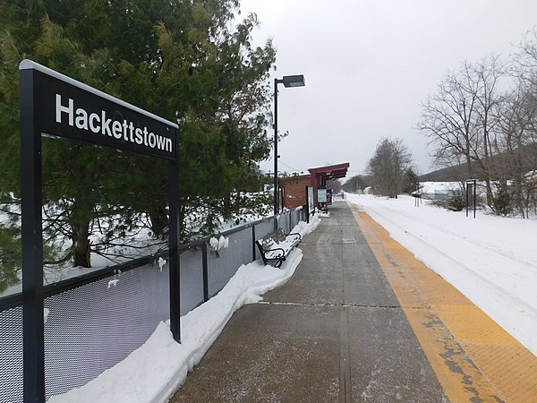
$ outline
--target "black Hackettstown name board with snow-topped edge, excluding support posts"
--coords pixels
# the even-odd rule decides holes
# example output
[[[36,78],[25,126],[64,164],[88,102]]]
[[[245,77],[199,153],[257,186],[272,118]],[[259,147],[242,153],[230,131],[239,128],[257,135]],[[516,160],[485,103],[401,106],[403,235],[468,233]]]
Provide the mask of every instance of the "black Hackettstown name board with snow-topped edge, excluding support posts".
[[[34,127],[41,133],[177,159],[177,124],[30,60],[19,69],[31,81]]]

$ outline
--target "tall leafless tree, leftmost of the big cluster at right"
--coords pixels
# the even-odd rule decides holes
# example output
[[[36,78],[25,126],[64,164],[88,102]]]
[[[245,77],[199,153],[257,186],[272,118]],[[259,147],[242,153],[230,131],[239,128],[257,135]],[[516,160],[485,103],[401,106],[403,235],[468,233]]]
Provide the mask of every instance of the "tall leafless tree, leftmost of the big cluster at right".
[[[498,118],[499,79],[505,75],[498,56],[478,64],[465,62],[457,72],[447,73],[435,94],[422,105],[417,128],[434,148],[435,163],[453,167],[464,161],[466,178],[480,176],[487,184],[487,202],[493,205],[491,180],[495,176],[491,135]]]

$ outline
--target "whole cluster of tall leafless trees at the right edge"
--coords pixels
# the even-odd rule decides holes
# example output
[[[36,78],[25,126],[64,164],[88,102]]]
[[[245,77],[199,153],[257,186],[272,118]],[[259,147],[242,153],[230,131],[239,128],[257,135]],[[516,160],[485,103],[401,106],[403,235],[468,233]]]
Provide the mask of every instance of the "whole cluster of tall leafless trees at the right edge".
[[[438,167],[463,165],[460,180],[479,179],[496,214],[537,209],[537,30],[509,60],[465,61],[422,105],[417,128]]]

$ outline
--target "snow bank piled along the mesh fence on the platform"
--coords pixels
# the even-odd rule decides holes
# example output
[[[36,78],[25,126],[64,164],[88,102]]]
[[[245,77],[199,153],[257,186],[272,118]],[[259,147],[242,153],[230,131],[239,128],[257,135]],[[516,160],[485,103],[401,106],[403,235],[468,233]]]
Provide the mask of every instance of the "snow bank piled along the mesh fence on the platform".
[[[318,217],[294,227],[292,232],[309,234],[320,223]],[[181,344],[175,342],[169,322],[121,363],[101,373],[81,388],[54,396],[48,403],[157,403],[169,399],[186,375],[217,339],[231,315],[243,304],[262,300],[267,291],[286,283],[302,261],[294,249],[280,269],[252,262],[241,266],[226,287],[207,303],[181,318]]]

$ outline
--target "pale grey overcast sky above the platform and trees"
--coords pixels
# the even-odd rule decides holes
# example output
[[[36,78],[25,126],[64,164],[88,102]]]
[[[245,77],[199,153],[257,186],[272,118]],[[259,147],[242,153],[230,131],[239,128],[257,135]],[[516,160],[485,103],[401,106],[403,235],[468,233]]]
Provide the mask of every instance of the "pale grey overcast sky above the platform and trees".
[[[278,85],[278,128],[290,133],[279,170],[350,162],[347,178],[382,137],[403,139],[421,174],[433,170],[413,129],[422,102],[464,60],[507,57],[537,26],[537,0],[241,0],[241,10],[258,15],[256,45],[273,39],[273,77],[305,76],[303,88]]]

